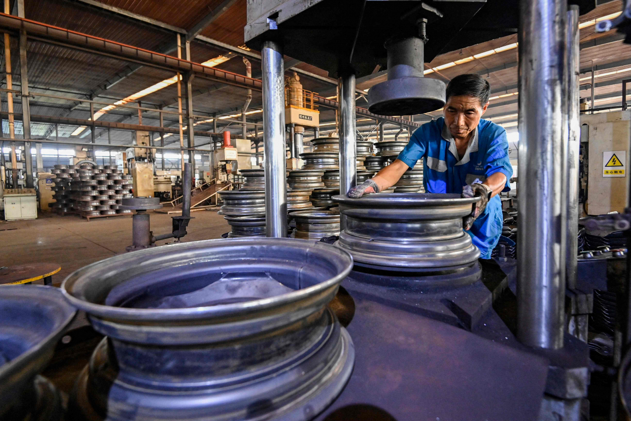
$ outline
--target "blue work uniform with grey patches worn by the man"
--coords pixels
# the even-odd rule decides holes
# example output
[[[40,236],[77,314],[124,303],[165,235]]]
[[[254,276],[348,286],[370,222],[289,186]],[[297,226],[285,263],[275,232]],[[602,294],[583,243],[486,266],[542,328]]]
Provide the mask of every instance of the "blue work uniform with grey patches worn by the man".
[[[481,119],[475,128],[463,158],[458,158],[456,142],[445,125],[444,118],[425,123],[414,131],[410,142],[398,159],[412,168],[423,158],[423,185],[428,193],[463,192],[463,186],[476,178],[484,181],[488,176],[502,173],[510,190],[512,167],[509,160],[509,142],[506,130],[491,121]],[[480,248],[480,257],[490,259],[493,248],[502,234],[502,202],[499,195],[488,201],[487,209],[478,216],[469,231],[473,244]]]

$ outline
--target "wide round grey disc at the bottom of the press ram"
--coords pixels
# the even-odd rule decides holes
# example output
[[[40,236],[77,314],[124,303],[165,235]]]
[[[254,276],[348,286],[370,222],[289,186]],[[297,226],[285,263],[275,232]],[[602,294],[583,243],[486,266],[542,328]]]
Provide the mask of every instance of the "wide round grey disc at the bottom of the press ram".
[[[428,113],[445,105],[442,80],[406,77],[377,83],[368,92],[368,111],[380,116]]]

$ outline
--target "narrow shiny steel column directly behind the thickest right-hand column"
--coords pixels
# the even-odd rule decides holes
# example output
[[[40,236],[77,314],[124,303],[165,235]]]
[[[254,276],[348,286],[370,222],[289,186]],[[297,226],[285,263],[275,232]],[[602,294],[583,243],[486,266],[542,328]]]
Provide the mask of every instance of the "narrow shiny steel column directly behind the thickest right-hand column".
[[[579,6],[569,6],[567,12],[567,111],[568,111],[568,138],[567,155],[565,158],[566,170],[563,171],[567,178],[565,186],[567,192],[567,214],[565,226],[565,283],[568,288],[576,288],[577,260],[579,244],[576,240],[579,233],[579,146],[581,143],[581,117],[579,93],[579,53],[581,39],[579,37]]]

